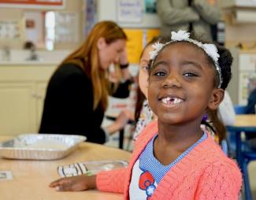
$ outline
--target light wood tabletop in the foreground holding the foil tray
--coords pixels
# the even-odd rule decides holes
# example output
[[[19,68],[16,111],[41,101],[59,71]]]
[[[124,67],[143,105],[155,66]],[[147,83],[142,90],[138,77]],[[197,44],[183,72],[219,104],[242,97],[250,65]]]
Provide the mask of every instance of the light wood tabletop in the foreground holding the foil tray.
[[[0,136],[0,141],[11,139]],[[0,158],[0,171],[13,172],[13,180],[0,180],[0,199],[4,200],[119,200],[122,194],[93,191],[58,192],[48,187],[53,180],[60,178],[57,167],[79,161],[113,160],[128,161],[131,153],[117,148],[95,143],[81,143],[67,157],[58,161],[25,161]]]

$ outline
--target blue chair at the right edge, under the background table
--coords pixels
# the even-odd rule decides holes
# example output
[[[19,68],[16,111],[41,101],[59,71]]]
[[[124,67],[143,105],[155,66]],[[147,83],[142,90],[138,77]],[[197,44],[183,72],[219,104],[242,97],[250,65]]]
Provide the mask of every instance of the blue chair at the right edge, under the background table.
[[[247,145],[247,142],[243,142],[241,139],[241,133],[254,133],[256,134],[256,127],[236,127],[236,126],[227,126],[227,130],[235,135],[236,137],[236,161],[239,164],[243,172],[243,183],[244,183],[244,192],[246,200],[251,200],[250,192],[250,181],[248,176],[247,165],[250,161],[256,160],[256,151],[252,150],[250,146]]]

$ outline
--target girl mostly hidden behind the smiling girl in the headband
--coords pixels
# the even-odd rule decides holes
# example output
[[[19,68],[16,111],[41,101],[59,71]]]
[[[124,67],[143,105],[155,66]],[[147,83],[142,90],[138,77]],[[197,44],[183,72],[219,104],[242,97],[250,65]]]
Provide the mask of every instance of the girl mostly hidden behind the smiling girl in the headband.
[[[133,134],[133,139],[136,140],[139,137],[139,134],[149,124],[152,120],[155,120],[157,117],[154,115],[150,109],[148,100],[147,100],[147,89],[148,89],[148,78],[149,78],[149,65],[150,65],[150,51],[154,50],[154,43],[160,42],[165,43],[166,38],[156,37],[152,39],[147,46],[145,46],[139,60],[139,87],[137,91],[137,102],[135,106],[135,121],[136,127]],[[208,110],[207,119],[203,117],[202,119],[202,128],[210,131],[213,135],[215,141],[221,144],[223,139],[226,137],[226,129],[222,119],[225,119],[224,122],[231,121],[233,118],[232,112],[229,111],[231,102],[229,95],[224,95],[224,99],[219,106],[219,113],[221,117],[218,117],[217,110]],[[225,103],[225,104],[224,104]],[[223,105],[224,104],[224,105]],[[228,105],[228,106],[227,106]],[[232,104],[231,104],[232,106]],[[227,114],[229,114],[227,116]],[[225,118],[224,118],[225,117]],[[221,118],[221,119],[220,119]],[[214,124],[214,128],[211,124]],[[227,150],[225,150],[226,152]]]

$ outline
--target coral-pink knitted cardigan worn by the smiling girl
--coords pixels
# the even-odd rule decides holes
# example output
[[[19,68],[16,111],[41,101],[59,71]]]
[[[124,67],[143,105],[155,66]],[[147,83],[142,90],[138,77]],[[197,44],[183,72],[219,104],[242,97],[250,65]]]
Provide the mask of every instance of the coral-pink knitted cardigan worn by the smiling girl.
[[[98,190],[124,193],[129,199],[132,168],[139,154],[158,132],[157,121],[139,135],[127,169],[100,172],[96,178]],[[150,200],[155,199],[238,199],[242,176],[235,161],[225,156],[208,135],[189,154],[166,173]]]

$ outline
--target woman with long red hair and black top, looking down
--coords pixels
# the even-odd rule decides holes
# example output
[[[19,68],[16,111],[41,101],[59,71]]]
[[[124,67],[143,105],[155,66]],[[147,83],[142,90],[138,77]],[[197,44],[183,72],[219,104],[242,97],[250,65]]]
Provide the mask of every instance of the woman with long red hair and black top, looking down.
[[[40,133],[84,135],[88,142],[105,143],[109,134],[124,127],[126,111],[108,127],[101,124],[108,105],[109,65],[119,64],[127,71],[126,40],[124,31],[112,21],[95,25],[51,77]]]

